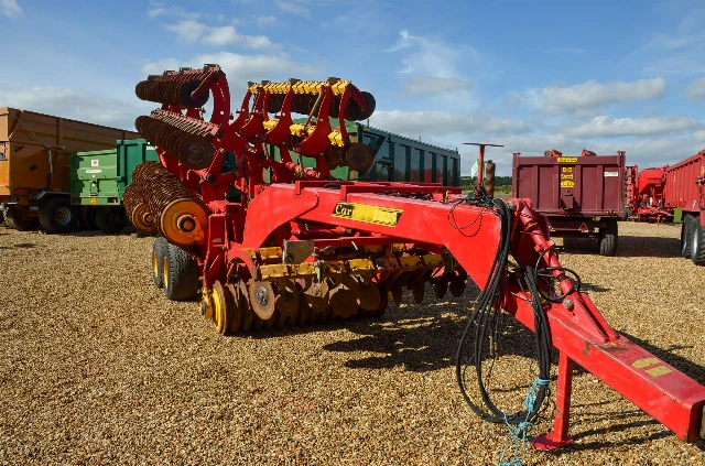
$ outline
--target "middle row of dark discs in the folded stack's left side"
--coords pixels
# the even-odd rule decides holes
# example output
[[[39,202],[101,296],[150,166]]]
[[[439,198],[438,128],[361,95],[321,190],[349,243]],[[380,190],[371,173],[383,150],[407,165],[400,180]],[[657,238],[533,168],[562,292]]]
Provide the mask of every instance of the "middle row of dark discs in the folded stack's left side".
[[[215,148],[207,138],[152,117],[139,117],[134,127],[144,139],[165,149],[189,169],[203,170],[213,161]]]

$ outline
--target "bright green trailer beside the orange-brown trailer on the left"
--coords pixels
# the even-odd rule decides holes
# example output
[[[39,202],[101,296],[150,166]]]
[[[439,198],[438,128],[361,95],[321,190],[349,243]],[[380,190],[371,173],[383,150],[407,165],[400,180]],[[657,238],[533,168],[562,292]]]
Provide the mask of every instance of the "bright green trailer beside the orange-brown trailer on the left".
[[[72,153],[70,203],[80,207],[84,228],[106,234],[124,228],[122,193],[132,183],[132,171],[144,161],[158,160],[154,145],[143,139],[118,141],[107,151]]]

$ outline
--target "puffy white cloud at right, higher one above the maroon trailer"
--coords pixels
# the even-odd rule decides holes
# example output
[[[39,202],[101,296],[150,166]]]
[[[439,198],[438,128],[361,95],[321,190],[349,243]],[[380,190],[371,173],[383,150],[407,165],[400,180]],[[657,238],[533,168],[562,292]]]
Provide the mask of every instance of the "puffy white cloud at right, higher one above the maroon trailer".
[[[535,100],[535,89],[525,93],[534,99],[547,113],[572,113],[575,111],[597,108],[607,104],[628,100],[651,100],[663,97],[665,79],[640,79],[632,83],[612,82],[600,84],[595,79],[567,87],[544,87],[541,89],[539,101]]]

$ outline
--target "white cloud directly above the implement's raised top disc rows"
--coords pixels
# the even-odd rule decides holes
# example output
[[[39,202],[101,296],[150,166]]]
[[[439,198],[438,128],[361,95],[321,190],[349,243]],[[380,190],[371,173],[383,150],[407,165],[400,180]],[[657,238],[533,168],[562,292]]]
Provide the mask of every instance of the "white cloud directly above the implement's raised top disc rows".
[[[311,65],[302,65],[292,62],[289,55],[279,53],[274,55],[241,55],[230,52],[204,54],[191,59],[180,61],[165,58],[148,63],[142,67],[142,73],[161,74],[164,69],[178,69],[180,67],[202,67],[205,63],[219,64],[228,76],[232,102],[238,105],[243,89],[249,80],[259,82],[283,80],[290,77],[312,78],[318,69]],[[242,93],[239,90],[242,89]]]

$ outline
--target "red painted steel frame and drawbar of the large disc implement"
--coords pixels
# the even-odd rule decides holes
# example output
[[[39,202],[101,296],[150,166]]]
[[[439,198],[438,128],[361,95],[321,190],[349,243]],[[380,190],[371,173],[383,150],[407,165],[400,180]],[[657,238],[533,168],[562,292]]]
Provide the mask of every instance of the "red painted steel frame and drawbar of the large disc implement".
[[[184,112],[164,106],[153,115],[165,121],[169,118],[163,113],[170,112],[172,124],[196,128],[216,149],[212,163],[203,170],[188,169],[158,149],[161,163],[197,193],[208,208],[207,224],[200,225],[204,236],[194,240],[189,249],[202,270],[204,307],[209,306],[209,293],[216,282],[270,278],[272,263],[258,251],[281,248],[285,241],[307,241],[312,254],[302,263],[316,262],[317,270],[326,273],[329,272],[326,267],[333,262],[324,254],[326,248],[406,243],[430,254],[414,256],[414,270],[426,267],[433,270],[434,278],[452,275],[453,280],[469,275],[478,284],[488,280],[495,260],[494,247],[489,245],[498,243],[500,223],[487,208],[462,202],[459,188],[434,183],[325,180],[329,172],[324,153],[335,145],[337,138],[345,145],[346,106],[355,100],[362,110],[367,109],[367,99],[351,84],[306,84],[308,90],[319,93],[316,99],[319,105],[310,115],[312,124],[299,128],[291,121],[297,82],[275,84],[280,90],[285,88],[285,97],[274,118],[268,111],[274,84],[250,84],[237,118],[230,122],[225,75],[219,68],[199,73],[208,76],[215,100],[216,110],[208,123],[195,109]],[[170,78],[169,74],[165,76],[164,79]],[[206,87],[199,87],[198,91],[205,91]],[[337,129],[327,126],[334,105],[339,105]],[[315,121],[321,123],[313,121],[314,113]],[[279,145],[282,159],[270,158],[264,143]],[[235,153],[237,167],[224,173],[227,152]],[[303,169],[292,153],[315,156],[316,169]],[[264,183],[263,170],[272,171],[271,183]],[[230,186],[242,193],[240,202],[225,201]],[[507,205],[511,212],[510,241],[516,259],[520,263],[540,261],[552,268],[566,293],[561,303],[542,304],[553,346],[560,351],[560,365],[554,430],[536,437],[534,445],[552,449],[571,443],[567,430],[575,362],[663,423],[679,438],[693,442],[705,437],[705,387],[612,329],[589,297],[574,290],[561,271],[546,219],[532,210],[528,199],[509,199]],[[434,254],[443,257],[443,262],[433,262]],[[355,272],[358,267],[352,261],[338,262],[343,272]],[[405,272],[403,263],[380,267],[381,262],[378,260],[369,270],[373,282],[394,280]],[[286,263],[276,267],[290,269]],[[501,308],[534,329],[532,296],[511,273],[502,282]]]

